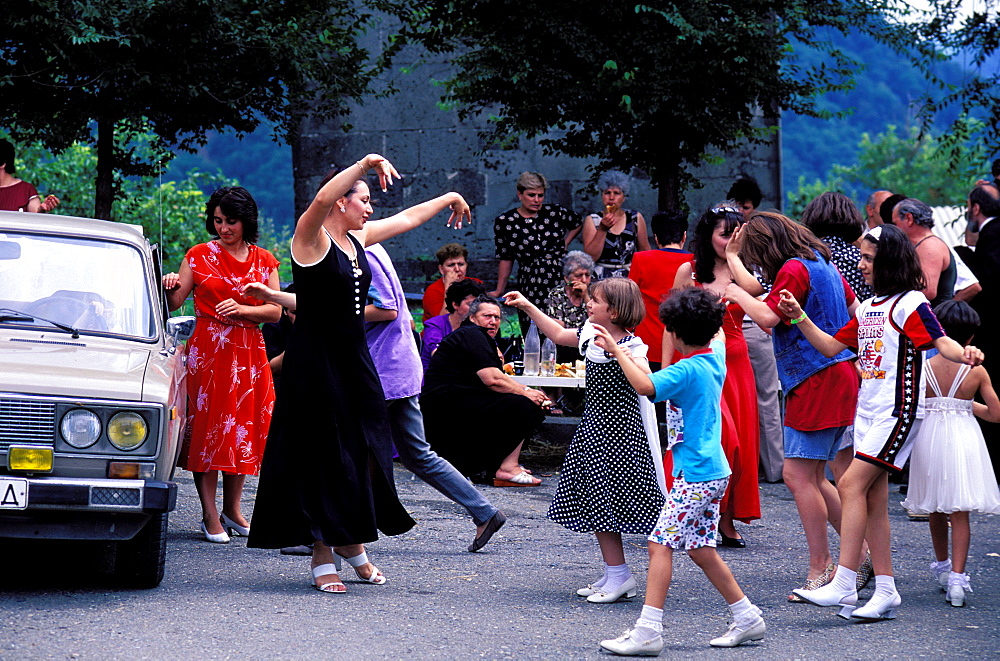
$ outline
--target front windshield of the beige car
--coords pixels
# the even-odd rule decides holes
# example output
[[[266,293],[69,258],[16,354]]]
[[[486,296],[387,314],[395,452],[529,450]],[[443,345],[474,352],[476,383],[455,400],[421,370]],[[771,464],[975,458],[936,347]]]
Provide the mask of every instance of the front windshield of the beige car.
[[[143,257],[132,246],[0,232],[0,323],[155,336]]]

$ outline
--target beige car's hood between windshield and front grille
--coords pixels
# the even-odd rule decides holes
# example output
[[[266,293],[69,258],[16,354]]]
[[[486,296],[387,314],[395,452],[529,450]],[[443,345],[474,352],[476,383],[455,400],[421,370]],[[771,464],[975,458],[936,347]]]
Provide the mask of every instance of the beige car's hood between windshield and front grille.
[[[4,333],[0,392],[140,401],[151,348],[132,345],[60,333]]]

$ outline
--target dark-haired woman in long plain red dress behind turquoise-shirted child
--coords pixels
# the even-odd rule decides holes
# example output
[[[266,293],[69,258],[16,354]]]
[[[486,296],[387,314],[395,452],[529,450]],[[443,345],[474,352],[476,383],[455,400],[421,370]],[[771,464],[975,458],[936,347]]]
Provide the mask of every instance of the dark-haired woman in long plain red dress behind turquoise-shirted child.
[[[674,280],[675,288],[703,287],[720,297],[733,281],[726,259],[726,244],[743,222],[732,202],[722,202],[707,210],[695,226],[694,261],[681,264]],[[722,324],[726,334],[726,381],[722,387],[722,448],[733,475],[729,480],[719,521],[719,540],[723,546],[743,548],[746,542],[736,531],[734,519],[744,523],[760,518],[760,493],[757,490],[757,456],[760,428],[757,421],[757,384],[753,366],[743,339],[743,310],[738,305],[726,308]],[[673,347],[664,342],[664,364],[673,362]],[[667,453],[666,460],[669,460]],[[669,467],[668,467],[669,468]],[[667,475],[669,475],[669,470]]]

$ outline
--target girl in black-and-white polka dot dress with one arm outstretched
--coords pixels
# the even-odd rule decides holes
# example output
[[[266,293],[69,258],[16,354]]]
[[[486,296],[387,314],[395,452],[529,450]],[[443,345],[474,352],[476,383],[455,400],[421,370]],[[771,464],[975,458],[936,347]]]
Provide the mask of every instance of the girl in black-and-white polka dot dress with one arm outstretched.
[[[629,385],[618,362],[599,348],[593,324],[608,329],[644,372],[646,345],[632,335],[645,314],[639,287],[625,278],[595,282],[583,328],[563,328],[519,292],[504,299],[524,310],[556,344],[578,345],[587,359],[587,403],[563,462],[549,518],[574,532],[593,533],[604,573],[577,590],[591,603],[611,603],[636,594],[622,548],[622,533],[647,535],[664,502],[664,479],[656,417],[648,399]]]

